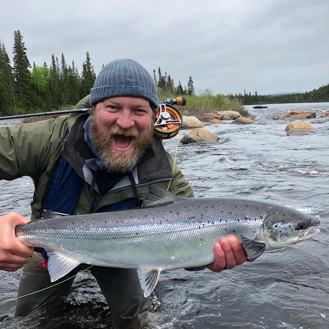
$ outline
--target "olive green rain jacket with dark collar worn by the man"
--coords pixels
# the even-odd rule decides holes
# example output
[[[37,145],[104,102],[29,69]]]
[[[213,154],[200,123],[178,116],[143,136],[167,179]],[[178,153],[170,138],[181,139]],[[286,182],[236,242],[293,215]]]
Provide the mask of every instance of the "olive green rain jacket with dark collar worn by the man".
[[[89,97],[90,95],[82,99],[75,108],[90,108]],[[31,220],[40,218],[42,197],[61,154],[81,174],[83,164],[76,157],[78,153],[74,147],[74,136],[86,118],[87,114],[69,114],[20,126],[0,127],[0,179],[13,180],[23,176],[30,176],[33,179],[35,191],[31,200]],[[67,130],[69,135],[65,138]],[[156,184],[167,189],[169,182],[169,191],[172,193],[193,197],[190,183],[177,164],[174,167],[173,158],[164,151],[159,139],[154,138],[153,149],[155,157],[138,166],[137,187],[140,198],[145,198],[147,184]],[[94,211],[131,197],[135,197],[132,187],[114,191],[102,197]],[[90,194],[90,186],[85,182],[74,214],[90,213],[95,199],[96,192]]]

